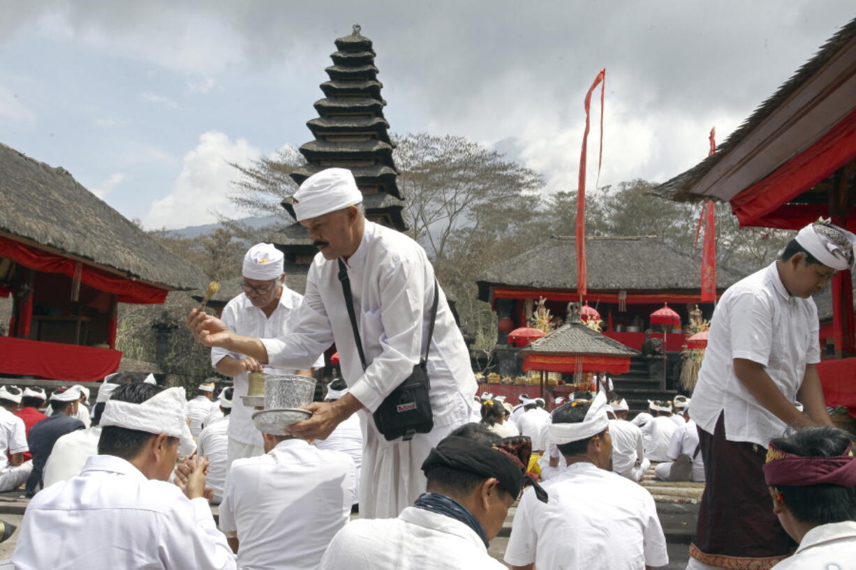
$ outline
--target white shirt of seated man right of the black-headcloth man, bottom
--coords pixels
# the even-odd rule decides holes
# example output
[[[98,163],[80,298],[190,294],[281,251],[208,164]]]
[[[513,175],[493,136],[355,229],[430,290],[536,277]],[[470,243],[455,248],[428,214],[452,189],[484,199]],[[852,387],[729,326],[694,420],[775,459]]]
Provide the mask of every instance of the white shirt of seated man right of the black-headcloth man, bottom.
[[[545,504],[527,489],[511,527],[512,566],[645,570],[669,563],[654,499],[645,488],[591,463],[544,482]]]

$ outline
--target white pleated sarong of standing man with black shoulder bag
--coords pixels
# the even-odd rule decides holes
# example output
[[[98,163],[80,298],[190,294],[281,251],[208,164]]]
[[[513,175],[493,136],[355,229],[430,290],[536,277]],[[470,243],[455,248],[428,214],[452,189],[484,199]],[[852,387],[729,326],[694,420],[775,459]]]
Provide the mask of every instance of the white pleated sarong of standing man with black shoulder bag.
[[[360,518],[395,519],[412,505],[427,485],[422,462],[431,448],[464,423],[435,427],[429,433],[416,434],[409,442],[387,442],[374,426],[366,429],[364,420]]]

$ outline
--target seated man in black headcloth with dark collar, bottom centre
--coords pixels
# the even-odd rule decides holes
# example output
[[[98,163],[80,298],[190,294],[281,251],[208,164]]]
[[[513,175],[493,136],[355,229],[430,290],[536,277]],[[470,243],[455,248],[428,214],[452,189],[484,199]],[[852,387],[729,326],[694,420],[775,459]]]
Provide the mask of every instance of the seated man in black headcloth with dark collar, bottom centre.
[[[427,492],[395,519],[345,525],[321,570],[502,570],[487,547],[520,495],[529,452],[525,437],[502,440],[483,425],[462,425],[422,464]]]

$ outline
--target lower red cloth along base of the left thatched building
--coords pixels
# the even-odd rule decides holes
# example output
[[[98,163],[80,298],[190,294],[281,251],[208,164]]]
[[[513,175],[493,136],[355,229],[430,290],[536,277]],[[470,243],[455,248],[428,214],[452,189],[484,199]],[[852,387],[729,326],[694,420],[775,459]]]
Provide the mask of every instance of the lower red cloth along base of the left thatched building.
[[[100,382],[119,369],[122,353],[107,348],[0,336],[0,372],[68,382]]]

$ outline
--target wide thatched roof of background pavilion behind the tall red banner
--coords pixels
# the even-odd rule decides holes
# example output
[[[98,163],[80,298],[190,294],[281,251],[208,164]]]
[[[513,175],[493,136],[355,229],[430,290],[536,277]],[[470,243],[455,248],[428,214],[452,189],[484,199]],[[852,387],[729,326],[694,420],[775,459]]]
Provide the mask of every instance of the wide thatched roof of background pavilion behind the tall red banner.
[[[591,291],[698,290],[699,262],[654,236],[586,238],[588,288]],[[719,289],[743,276],[717,265]],[[487,301],[491,285],[539,289],[576,289],[574,238],[551,236],[532,250],[484,271],[477,281],[479,299]]]

